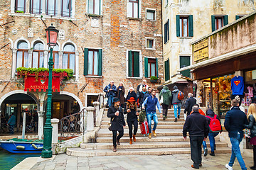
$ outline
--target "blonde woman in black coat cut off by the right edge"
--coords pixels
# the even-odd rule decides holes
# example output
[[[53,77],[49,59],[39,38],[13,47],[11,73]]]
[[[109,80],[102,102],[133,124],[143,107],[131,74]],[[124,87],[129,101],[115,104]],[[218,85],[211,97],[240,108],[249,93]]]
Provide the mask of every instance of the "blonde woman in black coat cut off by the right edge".
[[[244,125],[245,128],[250,129],[250,145],[253,145],[253,162],[254,165],[250,169],[256,169],[256,104],[252,103],[249,106],[247,113],[249,125]]]

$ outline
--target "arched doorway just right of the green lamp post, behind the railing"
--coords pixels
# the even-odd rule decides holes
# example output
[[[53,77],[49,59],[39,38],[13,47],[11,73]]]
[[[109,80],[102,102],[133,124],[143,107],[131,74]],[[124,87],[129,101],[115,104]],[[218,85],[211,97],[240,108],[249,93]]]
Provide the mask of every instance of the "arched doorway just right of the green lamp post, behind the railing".
[[[46,107],[47,106],[45,106],[45,111],[47,111]],[[63,91],[61,91],[60,93],[53,93],[52,118],[61,119],[67,115],[78,113],[81,111],[81,109],[82,102],[74,94]]]

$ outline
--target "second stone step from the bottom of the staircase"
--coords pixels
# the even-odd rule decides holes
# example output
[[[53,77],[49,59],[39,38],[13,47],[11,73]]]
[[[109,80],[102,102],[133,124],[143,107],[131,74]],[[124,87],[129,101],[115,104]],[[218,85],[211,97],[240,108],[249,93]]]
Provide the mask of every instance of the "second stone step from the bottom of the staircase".
[[[207,142],[207,147],[210,148],[210,143]],[[112,149],[112,143],[81,143],[80,147],[82,149]],[[190,147],[189,141],[183,142],[133,142],[129,145],[128,142],[123,142],[118,146],[119,149],[150,149],[150,148],[185,148]],[[228,147],[228,144],[222,142],[216,142],[216,147]]]

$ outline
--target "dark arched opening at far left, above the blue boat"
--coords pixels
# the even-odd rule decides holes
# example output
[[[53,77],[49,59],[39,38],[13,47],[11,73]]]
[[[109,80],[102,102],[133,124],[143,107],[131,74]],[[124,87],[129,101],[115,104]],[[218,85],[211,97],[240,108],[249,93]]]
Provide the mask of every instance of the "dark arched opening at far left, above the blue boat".
[[[7,129],[7,123],[11,115],[14,114],[16,125],[14,125],[14,132],[21,132],[22,122],[23,122],[23,115],[22,113],[26,111],[29,113],[29,118],[31,118],[31,122],[33,121],[33,114],[35,115],[35,122],[38,123],[38,115],[37,109],[38,104],[37,101],[34,99],[36,98],[33,94],[27,94],[26,92],[22,91],[12,91],[9,94],[6,94],[1,97],[0,104],[1,104],[1,128],[0,133],[7,133],[9,130]],[[36,120],[37,119],[37,120]],[[28,119],[26,120],[26,122]],[[33,131],[37,131],[37,126],[33,127]]]

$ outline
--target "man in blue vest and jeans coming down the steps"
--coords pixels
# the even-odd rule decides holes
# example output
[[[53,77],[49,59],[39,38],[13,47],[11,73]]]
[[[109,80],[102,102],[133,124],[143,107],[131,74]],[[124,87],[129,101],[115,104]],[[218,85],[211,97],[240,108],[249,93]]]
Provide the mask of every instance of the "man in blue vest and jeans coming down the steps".
[[[153,135],[156,137],[156,126],[158,123],[157,115],[156,115],[156,106],[161,114],[161,107],[159,104],[158,99],[156,98],[156,90],[152,89],[151,96],[147,97],[142,104],[142,108],[145,109],[146,105],[146,119],[149,123],[149,139],[151,139],[151,120],[154,120],[154,127],[153,127]]]

